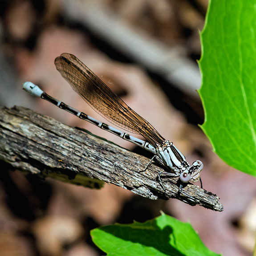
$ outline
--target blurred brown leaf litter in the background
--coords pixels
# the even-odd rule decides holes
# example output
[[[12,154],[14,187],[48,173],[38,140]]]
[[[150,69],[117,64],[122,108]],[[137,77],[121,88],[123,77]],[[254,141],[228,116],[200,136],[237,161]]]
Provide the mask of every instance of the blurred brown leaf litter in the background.
[[[160,210],[180,220],[189,220],[203,243],[215,252],[226,256],[252,255],[255,180],[228,167],[212,153],[210,143],[196,126],[203,122],[200,99],[179,89],[175,82],[171,84],[159,74],[150,74],[143,61],[134,61],[125,50],[120,51],[105,37],[93,33],[93,28],[79,19],[76,1],[68,2],[67,7],[67,1],[62,0],[0,1],[0,86],[3,88],[0,104],[30,107],[146,154],[129,142],[22,91],[22,82],[33,81],[53,97],[106,122],[72,91],[55,69],[55,57],[63,52],[72,53],[163,137],[173,140],[190,163],[195,158],[203,161],[203,186],[220,196],[224,211],[191,207],[174,199],[150,201],[109,184],[96,191],[53,179],[41,180],[19,171],[8,171],[8,166],[3,164],[0,255],[102,255],[90,239],[92,228],[115,222],[131,223],[133,219],[145,221],[159,215]],[[175,49],[177,57],[182,55],[191,61],[200,57],[198,29],[203,28],[207,0],[80,2],[97,3],[106,13],[111,10],[117,23],[128,24],[147,41],[155,40]],[[69,16],[71,9],[77,12],[77,20]]]

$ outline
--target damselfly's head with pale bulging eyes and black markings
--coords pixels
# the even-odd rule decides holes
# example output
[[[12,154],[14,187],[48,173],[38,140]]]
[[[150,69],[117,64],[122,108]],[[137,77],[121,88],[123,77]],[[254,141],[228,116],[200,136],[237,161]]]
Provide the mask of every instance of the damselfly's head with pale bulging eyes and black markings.
[[[183,183],[187,183],[189,181],[196,182],[200,179],[200,171],[203,170],[203,163],[199,160],[196,160],[192,165],[187,168],[187,170],[183,171],[179,175],[179,179]]]

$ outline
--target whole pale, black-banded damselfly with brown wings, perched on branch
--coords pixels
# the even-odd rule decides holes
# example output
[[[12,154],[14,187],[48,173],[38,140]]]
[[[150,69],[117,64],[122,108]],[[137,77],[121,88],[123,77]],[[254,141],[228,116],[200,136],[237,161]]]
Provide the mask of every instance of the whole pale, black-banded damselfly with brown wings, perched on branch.
[[[78,111],[65,103],[49,96],[32,82],[25,82],[23,89],[28,93],[41,97],[59,108],[76,115],[78,118],[86,120],[103,130],[107,130],[127,141],[150,151],[154,154],[150,162],[144,168],[145,171],[152,161],[155,159],[165,167],[167,171],[158,173],[158,179],[163,187],[161,177],[179,177],[181,191],[183,183],[196,182],[200,180],[200,171],[203,169],[203,163],[196,160],[190,166],[185,156],[175,147],[173,142],[165,140],[154,127],[144,118],[138,115],[134,110],[126,105],[99,77],[97,77],[90,69],[88,69],[80,60],[72,54],[63,53],[55,59],[57,70],[61,73],[73,90],[77,92],[94,110],[102,114],[108,121],[112,122],[120,128],[135,134],[141,134],[146,141],[135,138],[130,134],[115,129],[103,122],[100,122],[87,114]]]

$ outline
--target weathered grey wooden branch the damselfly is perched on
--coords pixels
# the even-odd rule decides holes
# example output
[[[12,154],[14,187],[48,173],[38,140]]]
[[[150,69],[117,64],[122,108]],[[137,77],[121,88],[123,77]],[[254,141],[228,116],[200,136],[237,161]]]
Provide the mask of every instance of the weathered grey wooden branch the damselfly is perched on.
[[[150,199],[167,199],[157,180],[162,167],[153,163],[142,171],[148,158],[23,107],[0,108],[0,160],[41,177],[96,188],[104,181]],[[188,184],[179,194],[177,178],[163,181],[170,198],[223,211],[211,192]]]

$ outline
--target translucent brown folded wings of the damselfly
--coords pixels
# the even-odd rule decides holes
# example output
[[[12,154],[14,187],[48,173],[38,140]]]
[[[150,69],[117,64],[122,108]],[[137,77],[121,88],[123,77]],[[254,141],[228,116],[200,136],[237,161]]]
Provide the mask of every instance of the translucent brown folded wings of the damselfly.
[[[165,139],[154,127],[126,105],[99,77],[72,54],[55,59],[57,70],[96,112],[116,126],[141,134],[153,146]]]

